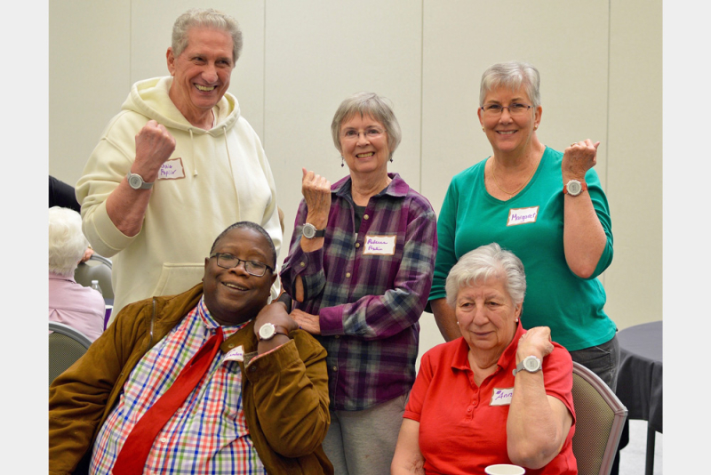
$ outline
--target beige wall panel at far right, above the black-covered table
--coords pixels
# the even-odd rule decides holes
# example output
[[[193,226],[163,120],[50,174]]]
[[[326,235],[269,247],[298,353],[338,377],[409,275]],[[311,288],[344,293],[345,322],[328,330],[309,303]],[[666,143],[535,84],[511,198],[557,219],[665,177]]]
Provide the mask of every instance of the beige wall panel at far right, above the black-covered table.
[[[621,330],[662,318],[661,0],[614,0],[610,24],[615,257],[605,272],[605,309]]]

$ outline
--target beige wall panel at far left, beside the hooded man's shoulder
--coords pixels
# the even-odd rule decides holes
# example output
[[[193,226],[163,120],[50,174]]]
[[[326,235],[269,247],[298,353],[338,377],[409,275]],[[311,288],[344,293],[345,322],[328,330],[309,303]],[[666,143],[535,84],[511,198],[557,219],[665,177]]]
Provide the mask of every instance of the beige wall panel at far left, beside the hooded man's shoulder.
[[[49,173],[74,186],[128,93],[131,3],[48,5]]]

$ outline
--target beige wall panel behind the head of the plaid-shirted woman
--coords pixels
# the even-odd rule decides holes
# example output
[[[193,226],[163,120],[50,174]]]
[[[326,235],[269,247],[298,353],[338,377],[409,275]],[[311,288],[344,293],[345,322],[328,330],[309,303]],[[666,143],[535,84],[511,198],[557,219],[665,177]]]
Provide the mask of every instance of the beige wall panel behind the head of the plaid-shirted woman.
[[[331,121],[352,93],[370,91],[393,102],[403,141],[389,170],[419,189],[420,31],[419,3],[409,0],[268,2],[264,141],[286,246],[301,199],[301,168],[332,182],[348,174]]]

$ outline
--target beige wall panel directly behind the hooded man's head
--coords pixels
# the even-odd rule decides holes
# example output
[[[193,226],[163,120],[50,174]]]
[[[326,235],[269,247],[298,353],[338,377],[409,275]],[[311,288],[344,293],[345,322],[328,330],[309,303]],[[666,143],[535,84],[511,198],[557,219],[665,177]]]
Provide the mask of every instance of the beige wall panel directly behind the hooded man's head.
[[[214,2],[161,0],[132,4],[132,84],[141,79],[167,76],[165,53],[171,45],[172,25],[190,8],[214,8],[236,18],[244,46],[232,72],[229,92],[239,101],[243,116],[262,136],[264,110],[264,1]],[[126,90],[128,93],[128,89]],[[118,106],[117,106],[118,107]]]

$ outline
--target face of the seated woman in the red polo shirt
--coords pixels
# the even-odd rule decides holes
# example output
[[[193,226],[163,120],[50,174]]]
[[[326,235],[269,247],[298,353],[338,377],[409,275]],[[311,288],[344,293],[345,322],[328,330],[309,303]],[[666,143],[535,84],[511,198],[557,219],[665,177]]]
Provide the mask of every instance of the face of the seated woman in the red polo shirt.
[[[460,288],[454,313],[471,350],[500,355],[514,338],[522,306],[514,304],[503,279],[490,278]]]

